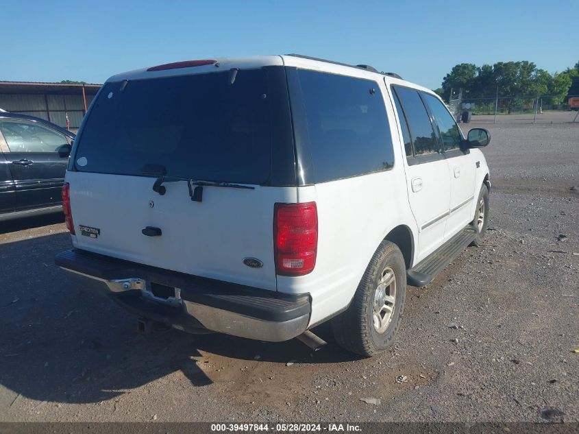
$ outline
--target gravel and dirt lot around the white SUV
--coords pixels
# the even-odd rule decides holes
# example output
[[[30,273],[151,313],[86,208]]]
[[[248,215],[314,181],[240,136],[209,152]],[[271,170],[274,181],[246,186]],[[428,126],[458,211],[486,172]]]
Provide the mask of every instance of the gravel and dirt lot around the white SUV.
[[[374,359],[343,352],[324,326],[330,344],[315,354],[295,340],[138,335],[133,317],[53,265],[70,245],[60,217],[3,224],[0,421],[579,422],[579,123],[569,116],[473,119],[493,134],[486,245],[409,288],[397,345]]]

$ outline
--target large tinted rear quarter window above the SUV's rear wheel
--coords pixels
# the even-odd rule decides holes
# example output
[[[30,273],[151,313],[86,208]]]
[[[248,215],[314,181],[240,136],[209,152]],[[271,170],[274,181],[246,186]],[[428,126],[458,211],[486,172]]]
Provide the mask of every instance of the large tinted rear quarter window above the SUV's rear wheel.
[[[377,82],[298,69],[314,182],[394,165],[392,136]]]

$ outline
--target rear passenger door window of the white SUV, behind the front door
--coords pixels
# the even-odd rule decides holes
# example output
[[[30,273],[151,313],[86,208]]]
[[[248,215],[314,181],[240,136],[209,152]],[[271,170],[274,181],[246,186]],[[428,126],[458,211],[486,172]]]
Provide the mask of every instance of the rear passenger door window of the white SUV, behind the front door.
[[[408,128],[410,129],[410,138],[414,145],[414,155],[416,157],[436,154],[439,146],[432,129],[432,123],[428,117],[428,112],[415,89],[393,86],[398,94]]]

